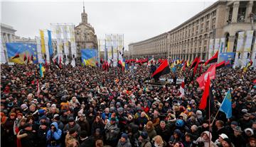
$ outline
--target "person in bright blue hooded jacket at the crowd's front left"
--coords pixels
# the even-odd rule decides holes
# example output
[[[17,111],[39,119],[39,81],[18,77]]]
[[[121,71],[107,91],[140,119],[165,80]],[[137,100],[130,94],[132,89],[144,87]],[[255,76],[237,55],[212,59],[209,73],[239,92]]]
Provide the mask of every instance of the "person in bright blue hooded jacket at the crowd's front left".
[[[50,130],[47,131],[47,146],[48,147],[60,147],[60,137],[61,137],[62,131],[58,129],[57,122],[53,122],[50,124]]]

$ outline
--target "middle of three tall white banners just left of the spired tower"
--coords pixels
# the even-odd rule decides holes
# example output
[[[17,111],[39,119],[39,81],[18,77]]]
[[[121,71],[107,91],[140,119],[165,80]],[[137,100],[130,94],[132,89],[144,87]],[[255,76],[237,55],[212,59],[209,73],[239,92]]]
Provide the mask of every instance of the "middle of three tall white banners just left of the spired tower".
[[[67,25],[62,26],[62,32],[63,32],[63,46],[64,46],[64,58],[63,58],[63,63],[68,65],[69,63],[69,51],[68,51],[68,28]]]

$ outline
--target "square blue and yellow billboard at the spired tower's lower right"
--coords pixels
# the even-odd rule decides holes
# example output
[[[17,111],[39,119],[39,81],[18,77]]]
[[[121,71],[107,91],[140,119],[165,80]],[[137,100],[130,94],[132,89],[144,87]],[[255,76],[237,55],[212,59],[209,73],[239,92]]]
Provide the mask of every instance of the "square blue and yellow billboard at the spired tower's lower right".
[[[97,66],[97,49],[81,49],[82,64],[85,66]]]

